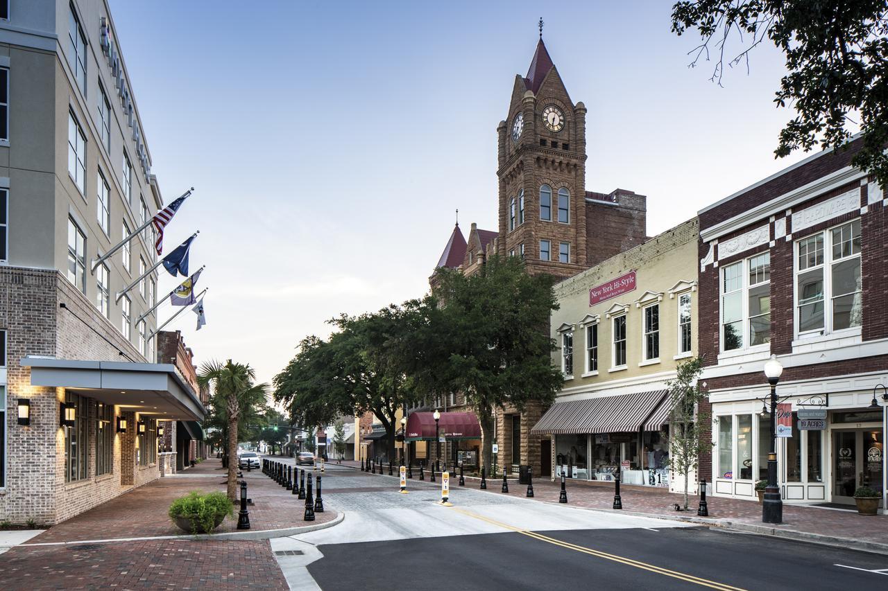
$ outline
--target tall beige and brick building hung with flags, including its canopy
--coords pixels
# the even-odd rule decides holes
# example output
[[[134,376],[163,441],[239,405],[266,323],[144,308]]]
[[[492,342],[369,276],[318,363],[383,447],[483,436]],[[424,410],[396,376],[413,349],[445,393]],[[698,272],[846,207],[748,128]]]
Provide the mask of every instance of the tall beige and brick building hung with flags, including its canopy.
[[[0,521],[54,524],[160,475],[204,407],[156,363],[163,204],[107,2],[0,2]]]

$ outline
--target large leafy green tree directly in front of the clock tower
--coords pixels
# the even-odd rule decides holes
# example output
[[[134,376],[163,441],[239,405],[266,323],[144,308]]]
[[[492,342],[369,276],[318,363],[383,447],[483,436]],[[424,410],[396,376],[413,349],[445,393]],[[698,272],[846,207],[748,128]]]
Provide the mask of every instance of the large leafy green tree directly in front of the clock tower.
[[[463,392],[478,415],[484,465],[492,465],[494,412],[549,404],[564,382],[551,363],[551,312],[558,309],[548,275],[530,275],[518,257],[492,256],[471,276],[441,268],[414,333],[410,370],[418,391]]]

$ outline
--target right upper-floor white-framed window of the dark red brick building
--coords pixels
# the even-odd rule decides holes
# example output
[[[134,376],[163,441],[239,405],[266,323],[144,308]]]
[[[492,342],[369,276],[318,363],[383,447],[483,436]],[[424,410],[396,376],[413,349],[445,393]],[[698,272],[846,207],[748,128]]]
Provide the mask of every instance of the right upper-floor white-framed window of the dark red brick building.
[[[860,327],[860,219],[796,242],[796,333]]]

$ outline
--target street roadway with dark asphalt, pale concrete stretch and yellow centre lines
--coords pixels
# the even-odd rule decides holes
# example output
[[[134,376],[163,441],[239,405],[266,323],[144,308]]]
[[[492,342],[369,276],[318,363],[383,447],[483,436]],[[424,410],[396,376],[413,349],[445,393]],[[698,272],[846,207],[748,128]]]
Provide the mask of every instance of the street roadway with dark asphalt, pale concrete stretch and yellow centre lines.
[[[273,540],[291,588],[888,588],[888,556],[328,469],[342,524]],[[440,483],[439,483],[440,485]],[[842,566],[839,566],[842,565]],[[879,572],[884,570],[884,572]]]

